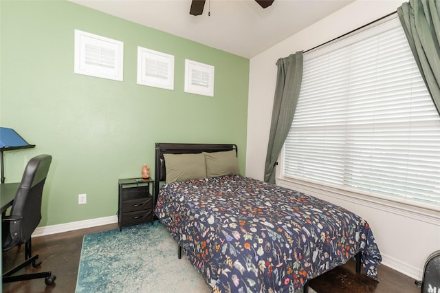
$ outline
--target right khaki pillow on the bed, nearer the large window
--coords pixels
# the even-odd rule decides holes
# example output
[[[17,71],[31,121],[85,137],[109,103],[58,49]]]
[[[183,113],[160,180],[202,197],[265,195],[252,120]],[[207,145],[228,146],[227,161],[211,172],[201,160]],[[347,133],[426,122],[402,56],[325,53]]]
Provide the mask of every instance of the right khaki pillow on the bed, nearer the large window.
[[[206,175],[216,177],[223,175],[239,175],[239,161],[236,158],[236,152],[218,151],[214,153],[205,153]]]

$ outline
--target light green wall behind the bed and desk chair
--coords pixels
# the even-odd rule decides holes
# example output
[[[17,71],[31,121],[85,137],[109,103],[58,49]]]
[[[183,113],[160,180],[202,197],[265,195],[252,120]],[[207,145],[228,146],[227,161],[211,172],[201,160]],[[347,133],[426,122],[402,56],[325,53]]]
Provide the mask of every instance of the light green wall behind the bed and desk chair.
[[[5,153],[6,182],[54,158],[40,226],[115,215],[118,178],[154,175],[155,142],[237,144],[245,173],[248,59],[66,1],[0,10],[0,125],[36,144]],[[75,29],[124,42],[123,82],[74,74]],[[175,56],[173,91],[137,85],[137,46]],[[184,93],[185,58],[214,65],[213,98]]]

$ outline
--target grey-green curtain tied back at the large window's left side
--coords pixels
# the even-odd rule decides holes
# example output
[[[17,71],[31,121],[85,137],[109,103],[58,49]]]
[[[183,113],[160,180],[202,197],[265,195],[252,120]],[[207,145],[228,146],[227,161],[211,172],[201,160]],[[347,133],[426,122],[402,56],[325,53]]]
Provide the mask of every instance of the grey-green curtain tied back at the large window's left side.
[[[294,120],[303,79],[303,52],[299,51],[276,62],[274,107],[264,169],[264,181],[275,183],[275,163]]]

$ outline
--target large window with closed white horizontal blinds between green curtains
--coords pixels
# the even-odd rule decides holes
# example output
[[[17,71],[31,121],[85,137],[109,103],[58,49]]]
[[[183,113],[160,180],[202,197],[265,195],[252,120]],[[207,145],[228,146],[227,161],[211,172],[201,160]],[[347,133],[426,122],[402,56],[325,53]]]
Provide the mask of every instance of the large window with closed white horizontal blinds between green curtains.
[[[440,117],[399,19],[304,55],[282,162],[285,180],[440,210]]]

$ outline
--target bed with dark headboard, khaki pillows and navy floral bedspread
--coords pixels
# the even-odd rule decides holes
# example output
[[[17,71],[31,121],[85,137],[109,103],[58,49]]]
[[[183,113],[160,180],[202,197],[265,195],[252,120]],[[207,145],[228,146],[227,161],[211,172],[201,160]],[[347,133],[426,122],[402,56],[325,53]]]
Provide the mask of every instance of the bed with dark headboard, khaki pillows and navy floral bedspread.
[[[155,215],[212,292],[307,292],[307,281],[353,257],[377,280],[382,257],[364,219],[240,175],[237,153],[156,144]]]

